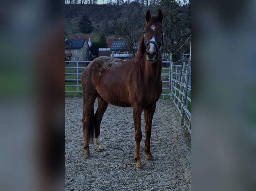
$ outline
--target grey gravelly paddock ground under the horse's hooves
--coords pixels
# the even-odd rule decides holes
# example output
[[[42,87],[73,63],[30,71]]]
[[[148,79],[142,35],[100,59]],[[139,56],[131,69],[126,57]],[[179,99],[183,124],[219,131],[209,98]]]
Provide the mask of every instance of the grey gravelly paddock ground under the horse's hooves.
[[[95,111],[97,99],[95,102]],[[142,113],[141,162],[135,168],[132,108],[108,105],[101,123],[105,151],[90,144],[91,157],[83,158],[83,98],[66,97],[66,191],[84,190],[191,190],[191,141],[180,126],[180,115],[170,100],[158,100],[152,122],[151,153],[146,160]],[[95,143],[95,139],[94,139]]]

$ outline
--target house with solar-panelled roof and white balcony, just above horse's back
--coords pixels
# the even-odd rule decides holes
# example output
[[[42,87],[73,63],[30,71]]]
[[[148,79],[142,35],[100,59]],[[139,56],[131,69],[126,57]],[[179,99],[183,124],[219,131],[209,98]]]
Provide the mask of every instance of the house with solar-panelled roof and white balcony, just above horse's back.
[[[133,45],[134,52],[138,50],[138,42]],[[111,45],[111,57],[119,58],[122,60],[131,60],[135,54],[129,48],[127,40],[123,38],[115,39]]]

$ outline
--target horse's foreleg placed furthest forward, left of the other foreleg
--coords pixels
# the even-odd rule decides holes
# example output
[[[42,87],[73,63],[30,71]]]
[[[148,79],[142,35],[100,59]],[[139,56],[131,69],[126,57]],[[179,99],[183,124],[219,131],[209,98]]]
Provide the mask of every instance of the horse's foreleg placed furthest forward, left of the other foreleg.
[[[136,141],[134,159],[136,160],[136,169],[138,170],[143,168],[143,165],[140,161],[140,141],[142,138],[141,113],[142,113],[142,109],[140,106],[138,105],[133,106],[133,121],[134,121],[134,127],[135,127],[134,136]]]

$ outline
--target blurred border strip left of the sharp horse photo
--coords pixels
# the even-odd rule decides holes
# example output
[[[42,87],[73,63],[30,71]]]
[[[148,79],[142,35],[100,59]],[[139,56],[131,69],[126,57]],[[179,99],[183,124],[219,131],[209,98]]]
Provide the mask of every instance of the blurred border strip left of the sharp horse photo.
[[[0,7],[0,190],[65,189],[64,3]]]

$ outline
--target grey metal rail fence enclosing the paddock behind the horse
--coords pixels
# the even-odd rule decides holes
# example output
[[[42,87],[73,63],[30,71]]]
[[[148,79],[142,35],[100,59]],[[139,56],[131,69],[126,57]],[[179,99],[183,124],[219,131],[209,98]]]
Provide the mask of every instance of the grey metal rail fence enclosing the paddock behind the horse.
[[[66,95],[82,95],[82,72],[90,61],[67,61],[65,64]],[[181,115],[181,125],[191,133],[191,63],[174,65],[172,59],[163,61],[162,98],[171,99]]]

